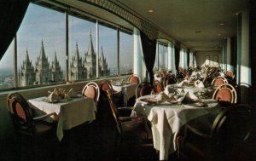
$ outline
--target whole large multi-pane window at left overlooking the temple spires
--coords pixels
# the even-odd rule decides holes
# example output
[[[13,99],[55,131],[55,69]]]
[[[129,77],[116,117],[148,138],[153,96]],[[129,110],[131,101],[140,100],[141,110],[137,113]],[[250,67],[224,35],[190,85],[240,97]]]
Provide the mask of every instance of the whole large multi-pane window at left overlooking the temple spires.
[[[77,10],[68,10],[65,15],[65,9],[30,3],[16,40],[0,61],[0,89],[23,89],[133,72],[132,31]]]

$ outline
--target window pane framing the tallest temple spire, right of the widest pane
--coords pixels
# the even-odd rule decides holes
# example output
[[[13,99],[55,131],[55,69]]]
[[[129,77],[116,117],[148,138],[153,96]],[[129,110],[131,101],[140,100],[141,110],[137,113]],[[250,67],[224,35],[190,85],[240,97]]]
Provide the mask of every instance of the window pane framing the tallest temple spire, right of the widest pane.
[[[69,15],[69,80],[96,78],[96,23]]]

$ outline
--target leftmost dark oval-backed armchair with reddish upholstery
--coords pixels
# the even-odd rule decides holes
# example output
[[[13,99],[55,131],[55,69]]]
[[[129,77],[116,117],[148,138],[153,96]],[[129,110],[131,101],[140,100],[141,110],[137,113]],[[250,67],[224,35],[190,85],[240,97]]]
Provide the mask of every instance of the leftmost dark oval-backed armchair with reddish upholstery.
[[[44,142],[49,141],[49,138],[57,141],[55,112],[36,117],[26,99],[17,92],[7,96],[7,107],[16,134],[29,136],[33,141]],[[50,118],[53,122],[46,122],[45,118]]]

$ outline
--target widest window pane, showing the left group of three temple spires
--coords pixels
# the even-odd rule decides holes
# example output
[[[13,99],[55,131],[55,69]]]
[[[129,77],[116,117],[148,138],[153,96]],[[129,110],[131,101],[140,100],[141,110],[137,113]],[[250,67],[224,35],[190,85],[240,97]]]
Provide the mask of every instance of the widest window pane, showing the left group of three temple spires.
[[[65,81],[65,16],[30,3],[17,32],[20,87]]]

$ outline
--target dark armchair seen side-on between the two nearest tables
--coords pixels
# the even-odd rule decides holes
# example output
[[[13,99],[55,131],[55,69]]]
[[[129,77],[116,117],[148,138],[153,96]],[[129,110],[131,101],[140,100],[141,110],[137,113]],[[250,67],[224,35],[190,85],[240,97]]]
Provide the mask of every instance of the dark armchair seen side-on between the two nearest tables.
[[[117,131],[119,136],[121,137],[121,141],[125,140],[133,140],[133,141],[149,141],[151,136],[151,131],[148,128],[147,118],[142,117],[122,117],[119,113],[121,111],[127,110],[126,107],[119,107],[117,108],[114,100],[113,100],[113,93],[110,89],[107,90],[108,94],[108,103],[117,127]],[[128,107],[129,109],[129,107]],[[125,140],[122,140],[122,138]]]

